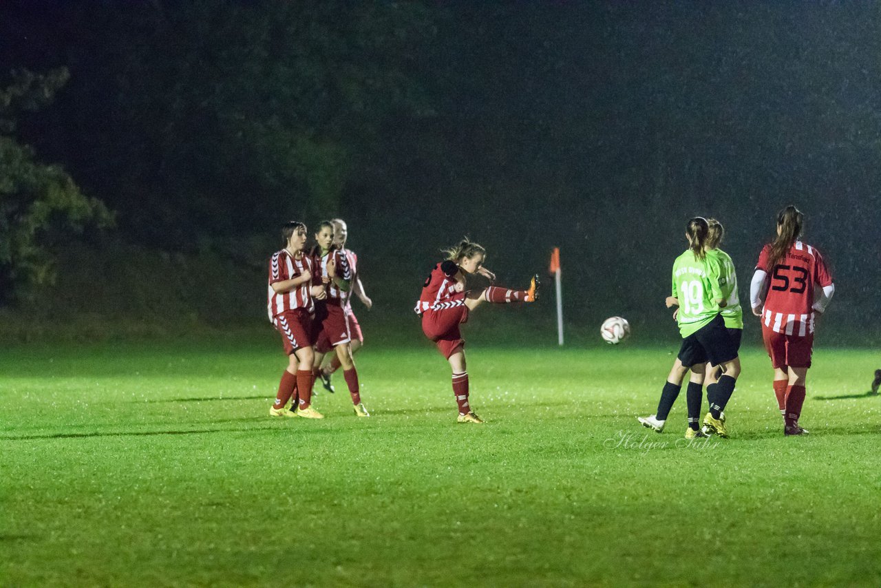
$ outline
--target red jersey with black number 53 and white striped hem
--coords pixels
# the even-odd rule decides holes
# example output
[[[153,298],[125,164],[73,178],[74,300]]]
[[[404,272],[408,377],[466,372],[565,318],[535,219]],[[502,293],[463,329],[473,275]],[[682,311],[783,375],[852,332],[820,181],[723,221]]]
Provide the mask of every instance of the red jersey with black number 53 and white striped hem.
[[[804,337],[814,331],[814,287],[832,284],[832,276],[818,249],[796,241],[773,268],[768,267],[771,244],[762,248],[757,270],[770,284],[762,324],[773,331]]]

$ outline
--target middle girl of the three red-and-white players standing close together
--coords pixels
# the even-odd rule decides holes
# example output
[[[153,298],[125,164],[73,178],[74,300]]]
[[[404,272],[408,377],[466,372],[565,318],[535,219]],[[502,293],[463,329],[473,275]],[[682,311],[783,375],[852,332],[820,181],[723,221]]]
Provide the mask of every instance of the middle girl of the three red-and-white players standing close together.
[[[327,297],[322,301],[315,302],[315,363],[313,372],[317,378],[324,354],[330,349],[336,349],[337,358],[343,366],[345,383],[349,386],[349,394],[352,396],[352,405],[358,416],[370,416],[366,406],[361,402],[358,371],[352,359],[352,349],[349,346],[352,340],[349,334],[349,325],[346,322],[342,302],[344,293],[348,292],[352,284],[352,271],[348,260],[333,245],[333,225],[329,220],[322,220],[315,233],[315,259],[316,271],[321,276],[322,283],[327,288]]]

